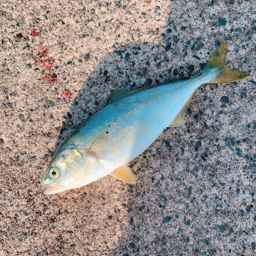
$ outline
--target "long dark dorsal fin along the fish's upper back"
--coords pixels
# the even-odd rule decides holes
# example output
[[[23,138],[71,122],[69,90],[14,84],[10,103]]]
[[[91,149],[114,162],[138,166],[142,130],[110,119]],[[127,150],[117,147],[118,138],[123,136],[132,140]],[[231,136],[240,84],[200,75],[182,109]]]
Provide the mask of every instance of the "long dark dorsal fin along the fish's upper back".
[[[141,89],[135,89],[135,90],[128,91],[128,92],[121,89],[121,88],[116,88],[112,91],[108,101],[106,102],[106,105],[111,104],[113,102],[118,101],[119,99],[122,99],[124,97],[127,97],[129,95],[132,95],[134,93],[137,93],[137,92],[140,92],[140,91],[143,91],[143,90],[146,90],[146,89],[151,89],[153,87],[162,86],[163,84],[166,84],[166,83],[173,83],[173,82],[183,81],[183,80],[187,80],[187,79],[194,78],[194,77],[195,76],[177,78],[177,79],[173,79],[173,80],[170,80],[170,81],[162,82],[160,84],[156,84],[155,86],[141,88]]]

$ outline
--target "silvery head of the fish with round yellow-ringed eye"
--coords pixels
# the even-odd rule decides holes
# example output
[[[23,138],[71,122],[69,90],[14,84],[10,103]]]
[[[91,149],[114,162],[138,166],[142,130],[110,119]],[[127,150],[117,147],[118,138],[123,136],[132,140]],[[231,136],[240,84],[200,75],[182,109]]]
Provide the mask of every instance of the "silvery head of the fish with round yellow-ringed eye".
[[[42,178],[44,194],[51,195],[82,185],[86,179],[86,164],[81,152],[76,148],[58,150]]]

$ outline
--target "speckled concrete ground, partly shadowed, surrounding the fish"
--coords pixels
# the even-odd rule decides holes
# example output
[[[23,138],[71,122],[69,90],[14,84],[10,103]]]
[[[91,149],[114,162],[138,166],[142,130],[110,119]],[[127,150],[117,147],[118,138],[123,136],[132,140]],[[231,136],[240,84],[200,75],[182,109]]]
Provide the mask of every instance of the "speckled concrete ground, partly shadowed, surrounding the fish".
[[[254,0],[5,1],[0,8],[1,255],[255,255]],[[196,92],[186,124],[105,177],[45,196],[56,147],[111,90],[199,75],[229,40],[239,83]]]

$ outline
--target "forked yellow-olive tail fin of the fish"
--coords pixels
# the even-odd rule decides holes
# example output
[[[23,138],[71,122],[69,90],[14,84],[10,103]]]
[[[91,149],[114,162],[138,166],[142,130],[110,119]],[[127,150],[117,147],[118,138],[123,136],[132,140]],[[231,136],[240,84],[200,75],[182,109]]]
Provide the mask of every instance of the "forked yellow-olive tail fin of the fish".
[[[235,82],[235,81],[241,81],[249,78],[251,75],[238,70],[234,69],[231,70],[227,67],[224,66],[225,62],[225,57],[226,57],[226,52],[227,52],[227,41],[223,42],[217,50],[212,54],[211,58],[205,65],[203,69],[203,74],[210,73],[212,69],[220,70],[220,74],[212,79],[211,83],[218,83],[218,82]]]

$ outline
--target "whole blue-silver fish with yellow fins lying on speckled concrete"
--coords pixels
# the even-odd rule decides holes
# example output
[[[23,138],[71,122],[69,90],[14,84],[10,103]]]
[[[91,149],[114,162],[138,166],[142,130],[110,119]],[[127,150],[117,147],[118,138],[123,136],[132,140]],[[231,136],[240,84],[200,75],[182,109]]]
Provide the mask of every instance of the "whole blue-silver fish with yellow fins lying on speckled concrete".
[[[227,41],[212,54],[199,76],[156,86],[112,91],[106,105],[86,119],[59,146],[42,178],[44,194],[78,188],[106,175],[135,184],[127,165],[167,127],[184,125],[195,91],[203,83],[234,82],[251,75],[225,67]]]

